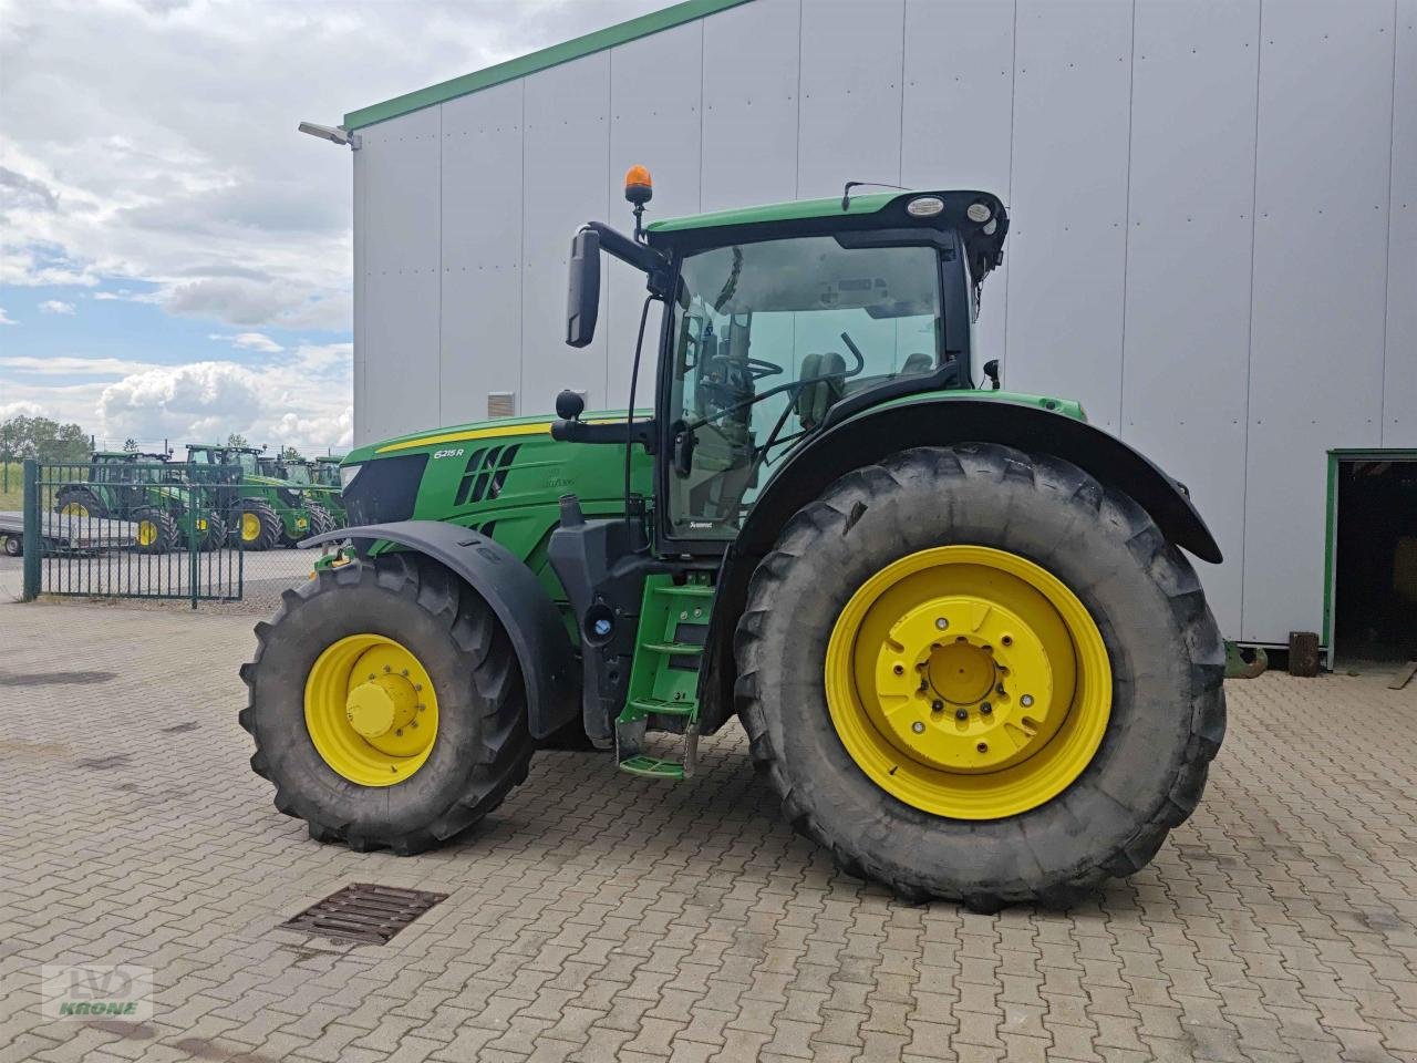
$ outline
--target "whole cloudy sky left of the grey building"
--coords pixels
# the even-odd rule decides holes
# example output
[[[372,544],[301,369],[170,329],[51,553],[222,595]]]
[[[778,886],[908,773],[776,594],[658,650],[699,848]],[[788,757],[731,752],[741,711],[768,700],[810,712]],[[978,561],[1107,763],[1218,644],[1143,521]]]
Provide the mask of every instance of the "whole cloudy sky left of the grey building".
[[[669,0],[0,0],[0,420],[350,441],[350,159],[296,133]]]

